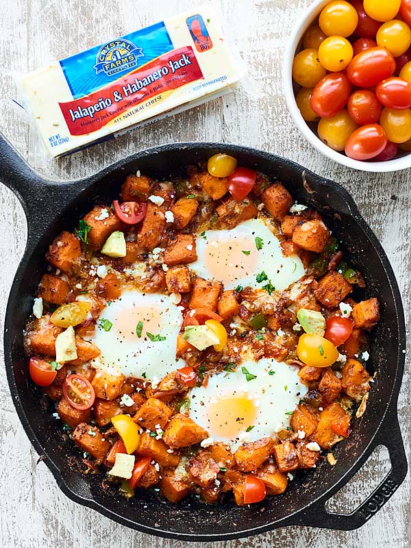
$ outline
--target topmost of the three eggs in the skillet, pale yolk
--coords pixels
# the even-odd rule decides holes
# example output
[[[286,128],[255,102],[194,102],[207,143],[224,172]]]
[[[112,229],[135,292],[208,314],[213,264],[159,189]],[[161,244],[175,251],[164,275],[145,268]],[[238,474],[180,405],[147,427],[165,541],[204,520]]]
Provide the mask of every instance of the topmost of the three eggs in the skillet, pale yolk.
[[[258,249],[260,248],[260,249]],[[279,240],[262,219],[250,219],[231,230],[207,230],[197,236],[197,261],[190,269],[206,279],[237,286],[284,290],[305,271],[297,255],[284,257]],[[259,277],[257,276],[265,273]]]

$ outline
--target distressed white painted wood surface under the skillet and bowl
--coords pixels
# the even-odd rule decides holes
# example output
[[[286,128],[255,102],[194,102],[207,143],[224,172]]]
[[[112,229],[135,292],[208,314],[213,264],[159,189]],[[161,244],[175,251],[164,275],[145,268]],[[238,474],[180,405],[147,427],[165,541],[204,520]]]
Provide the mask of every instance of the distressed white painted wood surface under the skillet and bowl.
[[[12,108],[14,77],[48,61],[155,23],[192,6],[192,0],[1,0],[0,131],[42,173],[62,179],[82,177],[138,149],[162,142],[214,140],[275,151],[345,185],[382,241],[393,264],[410,319],[411,172],[368,175],[326,160],[303,140],[286,109],[281,64],[285,40],[309,0],[221,0],[229,36],[249,64],[250,79],[234,96],[212,101],[116,142],[47,161],[33,130]],[[26,223],[18,200],[0,187],[0,312],[23,254]],[[2,330],[2,326],[1,326]],[[2,351],[2,350],[1,350]],[[1,358],[2,361],[2,358]],[[410,369],[403,380],[399,416],[410,454]],[[45,464],[37,464],[0,371],[0,543],[3,548],[166,548],[182,545],[128,530],[93,510],[77,506],[58,489]],[[351,511],[389,469],[387,452],[376,451],[332,508]],[[409,547],[410,480],[361,530],[333,532],[289,527],[229,548]],[[221,547],[223,543],[215,543]],[[198,545],[200,546],[200,545]]]

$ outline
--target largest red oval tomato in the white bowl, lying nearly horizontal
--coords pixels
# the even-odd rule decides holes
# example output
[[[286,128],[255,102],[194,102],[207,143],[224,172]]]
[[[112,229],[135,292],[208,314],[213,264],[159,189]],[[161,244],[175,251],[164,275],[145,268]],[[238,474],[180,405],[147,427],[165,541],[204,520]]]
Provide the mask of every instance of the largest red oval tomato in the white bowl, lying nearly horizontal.
[[[395,71],[393,55],[384,47],[372,47],[358,53],[347,67],[351,84],[359,88],[371,88]]]

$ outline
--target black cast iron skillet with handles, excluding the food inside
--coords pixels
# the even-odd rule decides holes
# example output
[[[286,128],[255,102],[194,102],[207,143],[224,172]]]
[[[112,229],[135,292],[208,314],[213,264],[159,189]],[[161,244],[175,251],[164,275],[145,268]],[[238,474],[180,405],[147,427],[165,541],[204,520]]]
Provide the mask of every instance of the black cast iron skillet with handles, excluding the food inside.
[[[354,421],[351,436],[333,451],[338,459],[336,465],[323,462],[309,473],[298,473],[280,497],[269,497],[252,508],[238,508],[232,503],[208,506],[195,498],[170,504],[155,493],[143,490],[132,501],[126,501],[121,495],[102,490],[101,475],[82,475],[73,464],[79,458],[77,449],[62,441],[50,410],[45,411],[40,391],[27,378],[23,327],[32,312],[33,295],[45,268],[47,246],[62,229],[73,230],[79,216],[88,212],[94,203],[107,203],[106,199],[119,192],[128,173],[139,169],[153,177],[168,177],[187,164],[222,151],[236,156],[239,164],[278,177],[300,203],[318,208],[368,281],[365,297],[377,295],[379,298],[382,319],[371,341],[369,364],[376,376],[369,404],[362,419]],[[406,343],[403,309],[386,254],[346,190],[273,154],[236,145],[195,142],[138,152],[87,179],[53,182],[34,173],[10,144],[0,138],[0,179],[21,200],[28,225],[27,247],[14,278],[5,318],[8,382],[27,436],[36,451],[45,456],[45,463],[68,497],[146,533],[179,540],[225,540],[285,525],[352,530],[363,525],[393,495],[407,472],[397,419]],[[382,483],[351,514],[327,512],[324,506],[327,499],[360,469],[377,445],[388,447],[392,463]]]

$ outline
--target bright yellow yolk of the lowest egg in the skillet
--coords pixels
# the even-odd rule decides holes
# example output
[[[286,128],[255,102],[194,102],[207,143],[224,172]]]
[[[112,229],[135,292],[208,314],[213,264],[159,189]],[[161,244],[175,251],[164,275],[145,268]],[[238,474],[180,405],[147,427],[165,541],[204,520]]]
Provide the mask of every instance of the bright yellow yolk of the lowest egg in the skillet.
[[[253,425],[256,415],[256,406],[246,395],[220,399],[208,406],[210,435],[234,439]]]

